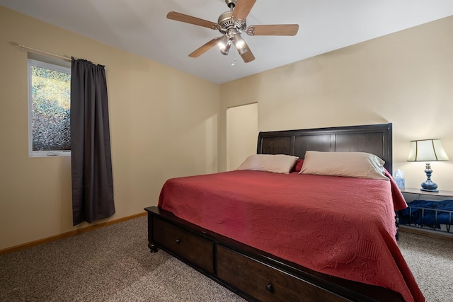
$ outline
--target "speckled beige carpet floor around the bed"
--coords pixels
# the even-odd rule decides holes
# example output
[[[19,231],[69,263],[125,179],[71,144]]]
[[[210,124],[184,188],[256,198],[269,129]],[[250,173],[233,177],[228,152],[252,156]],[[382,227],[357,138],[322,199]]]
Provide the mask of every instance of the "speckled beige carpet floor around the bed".
[[[453,301],[453,242],[401,233],[426,301]],[[147,248],[147,218],[0,256],[0,301],[243,301]]]

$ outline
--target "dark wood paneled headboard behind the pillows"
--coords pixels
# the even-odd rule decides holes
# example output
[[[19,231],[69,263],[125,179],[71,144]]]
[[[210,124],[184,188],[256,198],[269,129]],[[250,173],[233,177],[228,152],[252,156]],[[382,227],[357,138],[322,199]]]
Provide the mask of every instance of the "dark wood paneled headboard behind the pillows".
[[[258,154],[287,154],[304,158],[305,151],[367,152],[385,161],[392,173],[391,123],[363,126],[260,132]]]

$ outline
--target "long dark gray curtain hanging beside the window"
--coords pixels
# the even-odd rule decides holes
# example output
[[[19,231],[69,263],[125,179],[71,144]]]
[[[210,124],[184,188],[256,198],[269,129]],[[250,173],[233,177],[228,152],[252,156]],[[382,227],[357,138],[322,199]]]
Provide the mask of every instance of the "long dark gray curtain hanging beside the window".
[[[71,64],[71,170],[74,226],[82,221],[112,216],[115,205],[105,68],[74,58]]]

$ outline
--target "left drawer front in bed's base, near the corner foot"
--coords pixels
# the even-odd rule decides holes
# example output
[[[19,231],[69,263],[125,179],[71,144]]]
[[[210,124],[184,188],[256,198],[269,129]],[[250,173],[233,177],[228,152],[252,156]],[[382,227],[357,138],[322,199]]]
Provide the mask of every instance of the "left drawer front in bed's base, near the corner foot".
[[[211,274],[214,273],[214,242],[185,231],[162,219],[153,218],[154,243],[193,263]]]

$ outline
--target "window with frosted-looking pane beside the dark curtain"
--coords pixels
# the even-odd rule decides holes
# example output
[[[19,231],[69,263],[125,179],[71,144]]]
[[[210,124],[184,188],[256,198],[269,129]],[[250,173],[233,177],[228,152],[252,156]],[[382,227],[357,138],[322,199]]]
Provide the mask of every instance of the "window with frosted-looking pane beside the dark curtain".
[[[33,55],[33,57],[41,57]],[[71,69],[67,62],[28,59],[29,156],[70,156]]]

